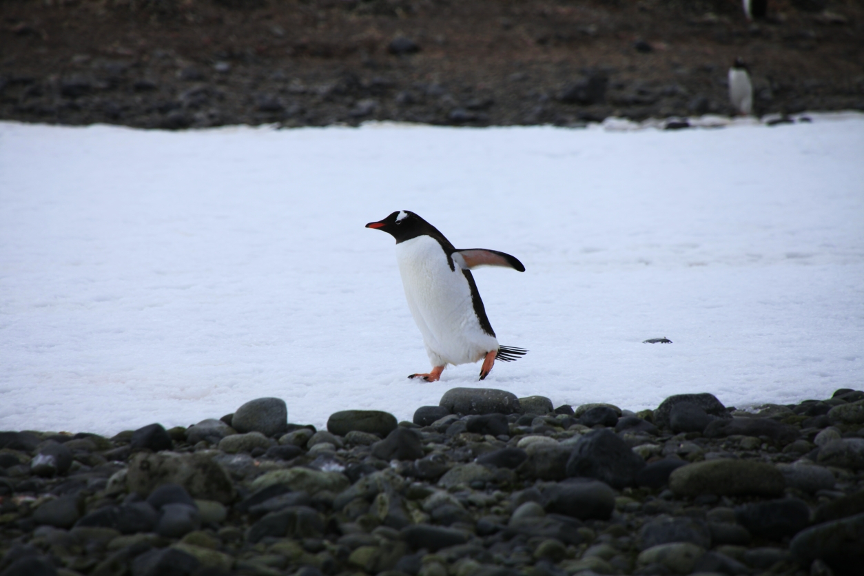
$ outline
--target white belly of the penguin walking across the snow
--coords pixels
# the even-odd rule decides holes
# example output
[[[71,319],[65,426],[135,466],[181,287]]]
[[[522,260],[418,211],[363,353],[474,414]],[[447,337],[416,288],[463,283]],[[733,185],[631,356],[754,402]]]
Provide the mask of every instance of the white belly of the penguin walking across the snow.
[[[477,362],[498,350],[498,339],[480,327],[467,278],[458,266],[450,269],[435,238],[397,244],[396,258],[408,307],[433,365]]]

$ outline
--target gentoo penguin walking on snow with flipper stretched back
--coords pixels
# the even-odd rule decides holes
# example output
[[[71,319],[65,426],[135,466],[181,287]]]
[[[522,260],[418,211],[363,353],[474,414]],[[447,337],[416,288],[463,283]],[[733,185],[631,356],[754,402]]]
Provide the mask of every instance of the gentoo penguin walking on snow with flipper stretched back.
[[[509,362],[527,352],[498,344],[471,275],[478,266],[505,266],[524,272],[516,258],[497,250],[456,250],[435,226],[407,210],[370,222],[366,228],[396,238],[405,299],[432,363],[428,374],[411,374],[409,378],[435,382],[447,364],[483,360],[483,380],[496,358]]]

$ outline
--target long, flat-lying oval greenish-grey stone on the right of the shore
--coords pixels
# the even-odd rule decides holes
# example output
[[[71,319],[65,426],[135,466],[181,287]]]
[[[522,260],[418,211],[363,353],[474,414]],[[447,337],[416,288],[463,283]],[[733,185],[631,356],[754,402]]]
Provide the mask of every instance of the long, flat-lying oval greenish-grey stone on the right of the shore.
[[[753,460],[715,459],[673,471],[669,486],[678,496],[779,496],[786,483],[772,465]]]

